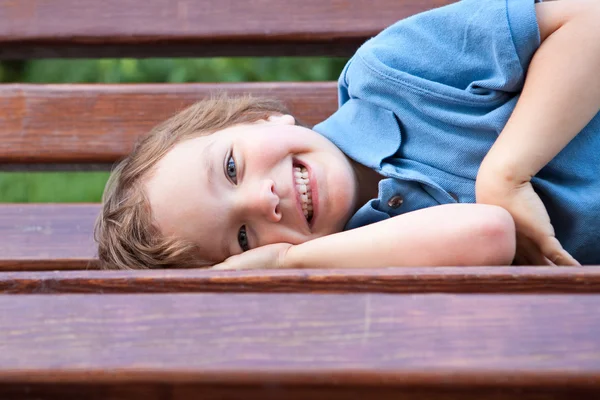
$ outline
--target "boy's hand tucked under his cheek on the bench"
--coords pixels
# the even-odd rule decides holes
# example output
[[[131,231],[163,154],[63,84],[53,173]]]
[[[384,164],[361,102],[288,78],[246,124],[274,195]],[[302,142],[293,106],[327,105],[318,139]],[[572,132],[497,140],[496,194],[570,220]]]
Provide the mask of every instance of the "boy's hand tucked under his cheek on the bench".
[[[289,243],[275,243],[257,247],[244,253],[229,257],[213,270],[277,269],[283,268]]]

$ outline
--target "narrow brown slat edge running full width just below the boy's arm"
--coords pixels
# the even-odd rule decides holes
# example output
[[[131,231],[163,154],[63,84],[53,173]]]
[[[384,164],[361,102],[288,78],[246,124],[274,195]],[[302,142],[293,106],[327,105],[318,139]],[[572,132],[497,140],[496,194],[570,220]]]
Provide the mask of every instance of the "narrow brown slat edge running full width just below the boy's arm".
[[[600,267],[0,273],[0,293],[600,293]]]

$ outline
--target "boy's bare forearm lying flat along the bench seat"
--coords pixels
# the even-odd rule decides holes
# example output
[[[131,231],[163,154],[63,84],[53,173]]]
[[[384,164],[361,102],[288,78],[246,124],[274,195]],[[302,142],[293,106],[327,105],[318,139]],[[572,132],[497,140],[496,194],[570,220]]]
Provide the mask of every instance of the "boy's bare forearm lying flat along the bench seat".
[[[284,268],[509,264],[514,225],[504,210],[452,204],[414,211],[292,246]]]

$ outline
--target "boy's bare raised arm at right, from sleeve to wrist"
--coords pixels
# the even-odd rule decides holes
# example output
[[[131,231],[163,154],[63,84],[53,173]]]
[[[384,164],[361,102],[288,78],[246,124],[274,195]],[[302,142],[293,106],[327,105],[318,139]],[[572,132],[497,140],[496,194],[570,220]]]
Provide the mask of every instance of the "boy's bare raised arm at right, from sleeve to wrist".
[[[528,182],[600,110],[600,5],[581,6],[588,9],[534,55],[515,110],[481,165],[478,201],[480,186],[491,180]]]

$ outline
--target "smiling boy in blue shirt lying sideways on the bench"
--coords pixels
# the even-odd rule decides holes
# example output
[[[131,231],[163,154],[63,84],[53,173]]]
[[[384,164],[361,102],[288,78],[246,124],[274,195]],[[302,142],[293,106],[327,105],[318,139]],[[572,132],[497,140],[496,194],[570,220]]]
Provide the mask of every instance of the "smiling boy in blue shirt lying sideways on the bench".
[[[192,106],[117,167],[99,257],[599,263],[599,18],[594,0],[465,0],[400,21],[346,65],[313,130],[269,101]]]

